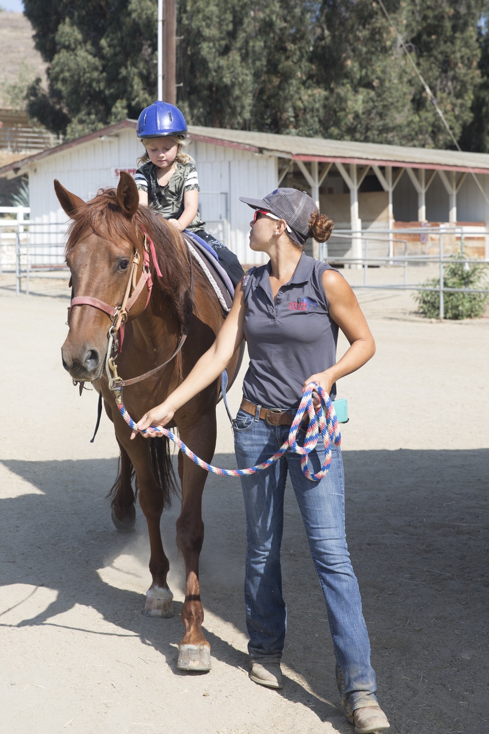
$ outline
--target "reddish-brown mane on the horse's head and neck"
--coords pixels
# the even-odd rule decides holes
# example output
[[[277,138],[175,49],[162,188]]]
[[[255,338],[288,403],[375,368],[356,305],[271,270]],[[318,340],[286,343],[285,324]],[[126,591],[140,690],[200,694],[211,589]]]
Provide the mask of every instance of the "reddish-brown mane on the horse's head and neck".
[[[86,236],[87,231],[113,242],[128,241],[133,247],[140,250],[142,227],[155,244],[156,258],[161,272],[161,277],[159,277],[155,273],[154,266],[152,267],[154,284],[152,297],[159,293],[160,296],[164,295],[168,299],[179,324],[180,338],[194,309],[194,298],[191,293],[191,255],[180,230],[169,225],[149,206],[139,206],[132,219],[128,219],[122,214],[117,203],[117,189],[99,189],[94,199],[87,201],[85,206],[80,206],[76,211],[73,222],[67,230],[65,255],[75,247],[82,236]],[[200,290],[205,291],[208,297],[216,300],[213,288],[198,267],[194,267],[194,284]],[[181,370],[181,352],[179,352],[177,371],[181,374]]]

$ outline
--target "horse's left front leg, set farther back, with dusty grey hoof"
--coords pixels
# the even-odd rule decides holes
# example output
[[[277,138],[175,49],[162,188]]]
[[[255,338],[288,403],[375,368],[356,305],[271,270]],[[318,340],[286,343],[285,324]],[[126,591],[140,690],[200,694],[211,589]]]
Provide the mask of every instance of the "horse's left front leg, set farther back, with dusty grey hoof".
[[[141,436],[137,436],[135,440],[130,441],[128,426],[122,419],[121,425],[118,424],[119,421],[114,421],[117,440],[127,451],[136,470],[139,486],[139,506],[146,518],[150,537],[152,584],[146,592],[143,614],[146,617],[173,617],[173,595],[166,581],[170,564],[163,551],[160,528],[161,513],[164,506],[163,490],[156,482],[152,471],[150,444]],[[119,428],[120,433],[118,432]]]

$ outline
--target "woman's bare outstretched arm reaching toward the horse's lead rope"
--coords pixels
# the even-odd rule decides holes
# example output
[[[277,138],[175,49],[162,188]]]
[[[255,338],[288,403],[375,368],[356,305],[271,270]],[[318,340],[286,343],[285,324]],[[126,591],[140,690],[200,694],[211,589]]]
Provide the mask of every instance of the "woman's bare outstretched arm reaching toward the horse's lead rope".
[[[131,439],[139,431],[149,428],[149,426],[165,426],[182,405],[185,405],[201,390],[205,390],[211,382],[219,377],[243,341],[245,310],[243,288],[241,283],[238,283],[231,310],[216,336],[214,344],[200,357],[188,377],[165,401],[144,413],[137,428],[130,435]]]

